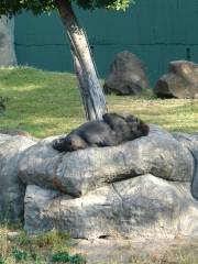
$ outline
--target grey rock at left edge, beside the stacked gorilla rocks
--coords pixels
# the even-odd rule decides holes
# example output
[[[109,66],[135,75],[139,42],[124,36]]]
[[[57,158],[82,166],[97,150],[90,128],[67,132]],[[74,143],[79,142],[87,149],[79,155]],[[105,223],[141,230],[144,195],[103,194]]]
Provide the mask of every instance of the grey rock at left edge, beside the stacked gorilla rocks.
[[[18,177],[18,164],[25,148],[35,144],[25,136],[0,134],[0,218],[23,219],[25,186]]]

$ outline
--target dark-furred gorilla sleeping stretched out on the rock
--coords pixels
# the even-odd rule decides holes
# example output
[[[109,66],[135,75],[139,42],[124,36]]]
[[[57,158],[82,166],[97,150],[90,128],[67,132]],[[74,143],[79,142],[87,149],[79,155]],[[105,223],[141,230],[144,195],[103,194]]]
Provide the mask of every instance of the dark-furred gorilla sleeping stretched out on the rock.
[[[90,121],[55,140],[53,147],[59,152],[73,152],[91,146],[113,146],[147,135],[150,128],[134,116],[103,114],[102,121]]]

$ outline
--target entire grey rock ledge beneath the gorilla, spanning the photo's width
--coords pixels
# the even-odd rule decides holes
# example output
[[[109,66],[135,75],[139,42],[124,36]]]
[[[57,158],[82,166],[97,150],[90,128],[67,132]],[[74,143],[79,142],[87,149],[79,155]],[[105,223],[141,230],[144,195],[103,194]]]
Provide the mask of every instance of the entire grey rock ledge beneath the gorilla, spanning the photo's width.
[[[151,125],[147,136],[73,153],[53,140],[0,134],[2,217],[73,238],[198,234],[198,135]]]

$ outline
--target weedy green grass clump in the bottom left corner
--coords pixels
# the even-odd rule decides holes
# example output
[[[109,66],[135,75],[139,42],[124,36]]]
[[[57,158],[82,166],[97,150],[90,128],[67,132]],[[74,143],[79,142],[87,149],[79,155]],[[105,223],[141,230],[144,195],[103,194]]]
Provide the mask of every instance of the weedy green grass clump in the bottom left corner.
[[[85,257],[72,250],[72,240],[66,233],[51,231],[42,235],[28,237],[18,229],[18,235],[10,239],[12,228],[0,228],[0,264],[85,264]]]

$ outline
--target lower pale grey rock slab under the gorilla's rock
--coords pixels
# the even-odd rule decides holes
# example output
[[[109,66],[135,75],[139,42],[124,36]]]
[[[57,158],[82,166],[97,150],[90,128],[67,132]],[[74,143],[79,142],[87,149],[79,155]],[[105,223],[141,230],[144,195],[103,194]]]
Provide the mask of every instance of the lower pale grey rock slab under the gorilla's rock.
[[[73,198],[28,186],[25,230],[63,230],[73,238],[198,235],[198,202],[189,183],[143,175]]]

